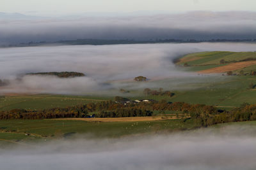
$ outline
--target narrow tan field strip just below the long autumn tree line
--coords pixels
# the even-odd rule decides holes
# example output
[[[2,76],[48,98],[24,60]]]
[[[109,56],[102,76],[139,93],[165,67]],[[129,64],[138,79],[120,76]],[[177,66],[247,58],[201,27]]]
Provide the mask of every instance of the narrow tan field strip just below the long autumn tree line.
[[[177,119],[171,116],[156,116],[156,117],[120,117],[120,118],[58,118],[53,120],[80,120],[86,122],[141,122],[152,120],[167,120]],[[52,119],[51,119],[52,120]]]

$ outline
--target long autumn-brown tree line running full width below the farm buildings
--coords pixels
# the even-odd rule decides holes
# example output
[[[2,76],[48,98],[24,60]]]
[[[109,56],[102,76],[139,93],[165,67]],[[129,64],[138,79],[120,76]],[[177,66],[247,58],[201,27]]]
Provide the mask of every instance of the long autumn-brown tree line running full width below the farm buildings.
[[[168,103],[166,101],[141,102],[122,104],[115,101],[88,103],[67,108],[50,108],[38,111],[15,109],[0,111],[1,120],[9,119],[42,119],[42,118],[84,118],[91,112],[98,111],[95,117],[147,117],[153,111],[177,111],[189,116],[200,127],[227,122],[242,122],[256,120],[256,104],[244,103],[231,111],[219,110],[205,104],[188,104],[184,102]],[[186,119],[184,119],[184,122]]]

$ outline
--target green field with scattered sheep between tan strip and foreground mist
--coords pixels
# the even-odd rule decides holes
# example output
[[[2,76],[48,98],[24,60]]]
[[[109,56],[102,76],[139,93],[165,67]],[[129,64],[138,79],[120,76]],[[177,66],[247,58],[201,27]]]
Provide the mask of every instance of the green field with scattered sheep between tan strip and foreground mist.
[[[0,143],[28,143],[73,135],[87,138],[119,138],[126,135],[192,129],[195,123],[182,119],[143,122],[84,122],[79,120],[0,120]],[[30,134],[26,136],[26,133]]]

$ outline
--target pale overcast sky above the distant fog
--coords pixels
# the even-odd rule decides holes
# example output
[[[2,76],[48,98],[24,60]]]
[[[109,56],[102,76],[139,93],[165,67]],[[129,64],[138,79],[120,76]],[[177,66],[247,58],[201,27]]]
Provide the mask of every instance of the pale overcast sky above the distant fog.
[[[0,11],[29,15],[70,15],[86,12],[177,13],[195,10],[256,11],[255,0],[1,0]]]

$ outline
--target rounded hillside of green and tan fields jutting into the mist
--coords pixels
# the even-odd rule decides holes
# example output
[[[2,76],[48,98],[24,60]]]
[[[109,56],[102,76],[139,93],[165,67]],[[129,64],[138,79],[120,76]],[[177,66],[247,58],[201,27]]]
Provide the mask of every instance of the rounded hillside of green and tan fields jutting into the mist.
[[[244,74],[254,71],[256,52],[200,52],[191,53],[177,60],[179,66],[187,66],[188,71],[198,73],[225,73],[234,71]],[[222,60],[222,61],[221,61]],[[221,62],[220,62],[221,61]]]

